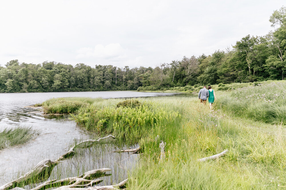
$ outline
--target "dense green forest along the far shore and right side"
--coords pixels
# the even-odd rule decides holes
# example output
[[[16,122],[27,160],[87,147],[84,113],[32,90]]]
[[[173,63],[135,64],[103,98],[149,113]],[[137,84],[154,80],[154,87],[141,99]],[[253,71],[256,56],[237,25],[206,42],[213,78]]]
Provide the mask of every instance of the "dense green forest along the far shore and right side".
[[[0,66],[0,92],[58,92],[106,90],[158,90],[264,80],[284,80],[286,74],[286,7],[269,19],[274,30],[265,36],[247,35],[226,50],[212,55],[184,56],[156,68],[118,68],[85,64],[75,67],[57,62],[19,63]]]

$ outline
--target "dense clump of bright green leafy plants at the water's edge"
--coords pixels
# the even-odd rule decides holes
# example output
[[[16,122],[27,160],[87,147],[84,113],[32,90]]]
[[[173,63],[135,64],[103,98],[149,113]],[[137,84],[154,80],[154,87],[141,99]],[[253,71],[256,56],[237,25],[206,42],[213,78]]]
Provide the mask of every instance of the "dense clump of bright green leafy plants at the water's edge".
[[[117,138],[138,142],[156,127],[170,125],[181,117],[178,111],[166,110],[154,102],[137,100],[134,103],[132,99],[130,103],[122,102],[100,109],[97,102],[90,107],[83,107],[72,118],[87,130],[100,134],[112,133]]]

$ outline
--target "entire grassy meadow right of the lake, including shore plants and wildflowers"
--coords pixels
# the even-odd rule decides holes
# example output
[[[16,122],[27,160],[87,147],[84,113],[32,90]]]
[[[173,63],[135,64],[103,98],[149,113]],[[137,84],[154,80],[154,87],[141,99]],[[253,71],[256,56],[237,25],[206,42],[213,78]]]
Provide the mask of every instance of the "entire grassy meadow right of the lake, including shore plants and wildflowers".
[[[284,81],[217,91],[214,110],[192,97],[73,98],[83,104],[72,118],[87,130],[140,144],[128,189],[285,189],[284,94]],[[161,140],[166,159],[159,162]],[[225,149],[219,159],[197,161]]]

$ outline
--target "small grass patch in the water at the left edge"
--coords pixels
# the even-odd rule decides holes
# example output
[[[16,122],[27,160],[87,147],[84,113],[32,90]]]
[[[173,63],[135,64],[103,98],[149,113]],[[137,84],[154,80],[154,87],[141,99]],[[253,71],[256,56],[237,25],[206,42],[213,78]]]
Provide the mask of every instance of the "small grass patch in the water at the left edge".
[[[39,132],[31,128],[16,127],[4,129],[0,132],[0,150],[10,146],[24,144],[38,134]]]

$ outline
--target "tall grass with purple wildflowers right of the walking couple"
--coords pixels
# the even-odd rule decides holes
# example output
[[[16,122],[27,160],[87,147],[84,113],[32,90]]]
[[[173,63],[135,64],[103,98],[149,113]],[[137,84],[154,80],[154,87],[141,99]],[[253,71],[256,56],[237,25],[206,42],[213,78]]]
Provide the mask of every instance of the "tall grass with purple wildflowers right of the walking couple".
[[[222,95],[215,103],[238,117],[286,124],[286,81],[244,87]]]

